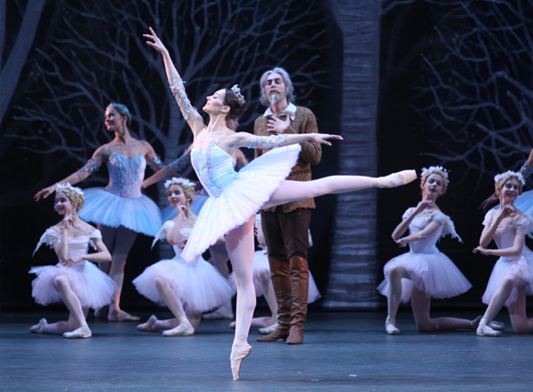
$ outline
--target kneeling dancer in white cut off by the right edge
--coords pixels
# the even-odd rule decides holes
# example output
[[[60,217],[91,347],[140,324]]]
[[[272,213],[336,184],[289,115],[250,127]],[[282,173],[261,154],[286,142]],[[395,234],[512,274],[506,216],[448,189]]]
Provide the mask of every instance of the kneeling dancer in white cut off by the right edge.
[[[499,208],[490,209],[483,221],[480,246],[473,249],[481,255],[499,256],[490,274],[483,303],[488,308],[476,333],[500,336],[492,320],[505,305],[515,333],[533,333],[533,318],[526,316],[526,295],[533,295],[533,252],[525,245],[533,238],[533,219],[514,206],[525,184],[521,173],[507,171],[494,177]],[[489,249],[494,239],[497,249]]]

